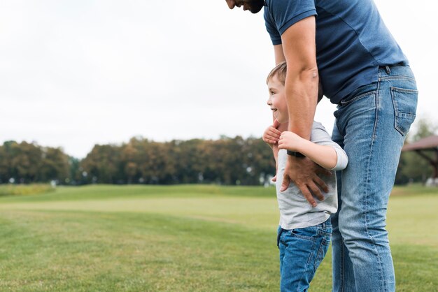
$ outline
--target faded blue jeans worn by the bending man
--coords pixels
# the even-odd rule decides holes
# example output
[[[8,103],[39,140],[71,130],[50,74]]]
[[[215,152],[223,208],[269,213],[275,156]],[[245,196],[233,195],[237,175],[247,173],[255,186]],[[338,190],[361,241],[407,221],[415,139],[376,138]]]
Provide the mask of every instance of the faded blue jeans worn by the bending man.
[[[417,96],[409,66],[388,66],[379,69],[378,82],[357,89],[334,112],[332,139],[344,148],[348,166],[337,173],[333,291],[395,291],[386,210]]]

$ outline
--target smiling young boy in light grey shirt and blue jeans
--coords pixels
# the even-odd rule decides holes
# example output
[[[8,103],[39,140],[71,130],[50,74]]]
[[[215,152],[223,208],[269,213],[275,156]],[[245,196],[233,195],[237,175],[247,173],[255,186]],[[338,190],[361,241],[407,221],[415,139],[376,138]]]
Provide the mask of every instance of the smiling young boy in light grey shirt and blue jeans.
[[[313,122],[311,140],[295,133],[276,128],[278,123],[288,122],[288,106],[285,98],[285,62],[278,64],[267,78],[269,87],[268,105],[274,112],[276,122],[263,134],[263,140],[274,150],[276,158],[276,193],[280,210],[277,245],[280,249],[281,291],[307,291],[316,269],[327,252],[332,236],[330,214],[337,212],[336,175],[321,177],[329,187],[324,200],[312,207],[303,194],[291,183],[280,191],[288,151],[298,152],[328,170],[346,168],[348,158],[343,149],[332,141],[324,127]],[[322,94],[318,94],[318,102]],[[278,148],[277,148],[278,147]],[[305,159],[305,158],[302,158]]]

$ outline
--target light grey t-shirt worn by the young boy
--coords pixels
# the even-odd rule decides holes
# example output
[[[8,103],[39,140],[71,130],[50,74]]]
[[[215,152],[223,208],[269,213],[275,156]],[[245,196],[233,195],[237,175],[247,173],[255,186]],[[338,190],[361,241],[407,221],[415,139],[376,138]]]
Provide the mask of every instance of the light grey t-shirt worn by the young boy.
[[[286,230],[318,225],[326,221],[330,214],[337,212],[337,183],[334,170],[346,168],[348,158],[344,150],[332,141],[324,126],[318,122],[313,122],[310,140],[319,145],[334,147],[334,150],[337,152],[337,165],[332,169],[331,176],[320,176],[325,184],[327,184],[329,192],[323,193],[325,200],[322,202],[317,200],[318,205],[312,207],[293,182],[290,183],[288,189],[283,192],[280,191],[288,154],[285,149],[278,151],[276,192],[278,209],[280,210],[280,226]]]

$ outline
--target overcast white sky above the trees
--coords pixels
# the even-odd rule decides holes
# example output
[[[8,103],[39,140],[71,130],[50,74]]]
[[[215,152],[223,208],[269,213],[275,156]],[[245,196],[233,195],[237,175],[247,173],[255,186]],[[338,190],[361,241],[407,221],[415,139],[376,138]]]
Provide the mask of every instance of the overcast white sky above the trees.
[[[438,124],[436,1],[376,0]],[[224,0],[0,0],[0,143],[261,136],[274,54],[262,13]],[[325,98],[327,99],[327,98]],[[335,106],[318,105],[331,132]]]

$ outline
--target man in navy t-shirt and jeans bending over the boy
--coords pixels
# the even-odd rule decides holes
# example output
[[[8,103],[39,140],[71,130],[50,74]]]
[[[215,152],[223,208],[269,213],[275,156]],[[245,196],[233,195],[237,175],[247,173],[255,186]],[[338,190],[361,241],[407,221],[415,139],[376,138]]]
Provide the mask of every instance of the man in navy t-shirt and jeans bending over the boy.
[[[418,92],[407,58],[372,0],[225,1],[230,9],[252,13],[264,7],[276,64],[288,64],[289,131],[310,138],[318,78],[325,96],[338,105],[332,139],[344,147],[349,164],[337,175],[333,290],[395,291],[385,226],[400,152],[416,113]],[[314,163],[299,156],[288,156],[282,189],[290,181],[313,206],[327,188]]]

